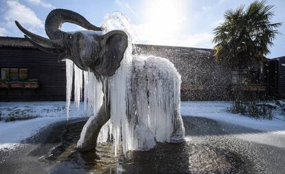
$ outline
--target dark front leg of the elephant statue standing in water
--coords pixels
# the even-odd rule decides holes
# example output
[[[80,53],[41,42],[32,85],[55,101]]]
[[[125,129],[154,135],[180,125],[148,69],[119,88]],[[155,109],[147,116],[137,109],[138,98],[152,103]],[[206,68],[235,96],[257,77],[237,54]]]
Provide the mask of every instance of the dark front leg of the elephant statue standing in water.
[[[97,116],[90,117],[84,125],[80,139],[77,142],[77,150],[81,152],[96,151],[96,142],[101,127],[109,120],[110,110],[109,105],[105,109],[103,104],[98,111]]]

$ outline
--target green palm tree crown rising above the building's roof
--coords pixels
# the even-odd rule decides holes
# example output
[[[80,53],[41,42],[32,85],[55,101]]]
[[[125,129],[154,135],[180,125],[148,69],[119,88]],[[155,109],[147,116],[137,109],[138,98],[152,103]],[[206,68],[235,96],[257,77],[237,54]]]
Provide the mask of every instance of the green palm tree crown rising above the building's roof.
[[[254,1],[248,8],[227,10],[224,23],[214,29],[215,60],[240,69],[264,60],[281,23],[271,23],[274,6]]]

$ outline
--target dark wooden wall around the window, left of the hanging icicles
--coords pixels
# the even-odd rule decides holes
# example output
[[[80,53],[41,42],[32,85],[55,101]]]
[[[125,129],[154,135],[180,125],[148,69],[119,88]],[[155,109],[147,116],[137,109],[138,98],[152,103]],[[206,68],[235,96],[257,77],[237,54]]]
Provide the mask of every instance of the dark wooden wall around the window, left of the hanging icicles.
[[[0,47],[0,68],[27,68],[38,89],[0,88],[0,101],[65,100],[65,62],[34,48]]]

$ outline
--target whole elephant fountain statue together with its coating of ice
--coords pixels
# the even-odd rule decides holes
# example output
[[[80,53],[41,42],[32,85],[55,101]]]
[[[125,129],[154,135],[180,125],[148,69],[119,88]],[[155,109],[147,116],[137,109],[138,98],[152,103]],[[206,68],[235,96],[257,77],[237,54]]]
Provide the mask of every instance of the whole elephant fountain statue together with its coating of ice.
[[[87,29],[63,32],[75,23]],[[149,150],[156,142],[184,141],[180,116],[180,74],[170,61],[134,56],[126,28],[108,22],[98,28],[70,10],[56,9],[45,20],[50,39],[25,30],[25,38],[43,52],[66,59],[67,118],[74,76],[74,102],[84,97],[89,120],[78,140],[78,151],[94,151],[96,143],[112,139],[116,153]],[[115,25],[113,25],[115,26]],[[83,90],[84,89],[84,90]]]

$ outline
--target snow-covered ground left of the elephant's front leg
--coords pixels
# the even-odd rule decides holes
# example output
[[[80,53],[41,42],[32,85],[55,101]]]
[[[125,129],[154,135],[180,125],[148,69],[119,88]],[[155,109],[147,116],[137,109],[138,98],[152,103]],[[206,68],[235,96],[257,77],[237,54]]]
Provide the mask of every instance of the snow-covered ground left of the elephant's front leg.
[[[0,149],[13,149],[19,142],[35,135],[43,127],[66,120],[65,102],[0,102],[1,117],[9,114],[39,116],[31,120],[0,121]],[[70,107],[70,119],[85,117],[83,105]]]

